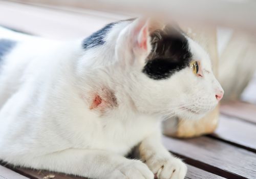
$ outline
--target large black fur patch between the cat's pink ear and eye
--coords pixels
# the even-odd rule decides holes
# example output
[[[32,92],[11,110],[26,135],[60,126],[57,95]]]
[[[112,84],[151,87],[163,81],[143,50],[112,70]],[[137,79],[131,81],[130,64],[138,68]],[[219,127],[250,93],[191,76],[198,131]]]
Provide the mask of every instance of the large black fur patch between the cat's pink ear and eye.
[[[152,52],[142,70],[148,77],[160,80],[172,76],[189,65],[192,54],[183,32],[165,27],[151,34]]]

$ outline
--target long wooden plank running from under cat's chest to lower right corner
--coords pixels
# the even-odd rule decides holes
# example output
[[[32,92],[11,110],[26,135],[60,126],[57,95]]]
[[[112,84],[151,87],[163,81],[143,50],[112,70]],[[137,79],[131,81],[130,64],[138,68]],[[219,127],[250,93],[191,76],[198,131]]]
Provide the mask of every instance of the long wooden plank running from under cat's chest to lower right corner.
[[[256,178],[256,154],[207,137],[163,137],[165,147],[190,165],[227,178]]]

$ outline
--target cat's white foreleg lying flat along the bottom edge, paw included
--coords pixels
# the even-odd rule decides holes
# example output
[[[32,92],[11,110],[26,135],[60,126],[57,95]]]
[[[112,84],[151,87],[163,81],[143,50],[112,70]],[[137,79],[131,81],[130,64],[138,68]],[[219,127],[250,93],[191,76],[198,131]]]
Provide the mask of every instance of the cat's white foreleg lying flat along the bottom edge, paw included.
[[[103,150],[67,149],[34,158],[25,157],[19,165],[98,179],[154,178],[152,171],[141,161]]]

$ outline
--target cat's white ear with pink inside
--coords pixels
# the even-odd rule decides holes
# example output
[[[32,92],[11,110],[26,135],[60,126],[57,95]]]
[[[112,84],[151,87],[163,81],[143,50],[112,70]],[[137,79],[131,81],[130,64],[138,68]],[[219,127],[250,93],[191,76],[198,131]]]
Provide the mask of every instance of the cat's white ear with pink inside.
[[[145,62],[152,49],[149,26],[149,19],[138,18],[120,32],[116,47],[119,58]]]

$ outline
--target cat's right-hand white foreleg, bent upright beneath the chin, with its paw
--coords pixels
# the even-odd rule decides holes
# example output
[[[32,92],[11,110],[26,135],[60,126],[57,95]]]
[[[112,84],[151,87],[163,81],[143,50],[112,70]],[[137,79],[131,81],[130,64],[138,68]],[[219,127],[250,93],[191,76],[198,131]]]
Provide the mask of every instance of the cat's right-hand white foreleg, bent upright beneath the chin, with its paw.
[[[144,139],[138,146],[138,150],[141,160],[157,175],[158,179],[183,179],[185,177],[186,165],[164,148],[161,144],[160,132]]]

